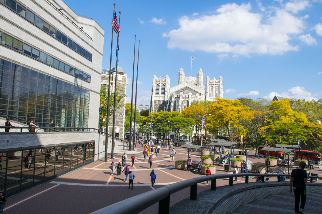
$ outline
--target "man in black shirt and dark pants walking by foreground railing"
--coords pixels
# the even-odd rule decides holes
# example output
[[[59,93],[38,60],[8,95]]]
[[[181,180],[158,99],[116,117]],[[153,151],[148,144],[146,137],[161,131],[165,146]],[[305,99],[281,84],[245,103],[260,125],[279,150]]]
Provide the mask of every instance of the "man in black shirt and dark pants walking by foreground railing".
[[[292,184],[295,196],[295,213],[303,214],[304,206],[306,202],[306,186],[305,183],[308,181],[308,175],[304,170],[306,163],[301,161],[297,169],[293,169],[291,173],[291,179],[289,181],[289,193],[292,193]],[[301,196],[301,206],[298,208]]]

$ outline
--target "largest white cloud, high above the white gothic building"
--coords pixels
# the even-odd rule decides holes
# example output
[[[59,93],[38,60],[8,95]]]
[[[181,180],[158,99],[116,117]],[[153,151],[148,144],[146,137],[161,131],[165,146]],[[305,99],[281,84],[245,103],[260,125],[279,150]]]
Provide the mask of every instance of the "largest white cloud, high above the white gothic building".
[[[250,3],[225,4],[216,14],[180,17],[180,27],[163,36],[169,37],[168,48],[189,51],[244,56],[297,51],[298,46],[289,41],[305,29],[303,19],[280,8],[273,12],[264,17],[265,14],[252,13]]]

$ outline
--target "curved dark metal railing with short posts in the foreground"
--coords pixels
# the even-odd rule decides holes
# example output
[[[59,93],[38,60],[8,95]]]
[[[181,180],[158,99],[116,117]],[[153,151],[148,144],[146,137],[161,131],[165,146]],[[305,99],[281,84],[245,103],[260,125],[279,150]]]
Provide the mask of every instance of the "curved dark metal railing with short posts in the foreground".
[[[209,175],[192,178],[189,180],[177,182],[175,184],[166,185],[155,190],[142,193],[131,198],[125,199],[118,203],[112,204],[108,207],[102,208],[91,214],[136,214],[139,213],[151,205],[159,202],[158,213],[159,214],[168,214],[170,207],[170,195],[176,193],[180,190],[183,190],[187,187],[190,187],[190,199],[197,200],[197,184],[205,181],[211,181],[211,190],[216,190],[216,180],[221,178],[229,178],[229,186],[233,185],[234,177],[245,176],[245,183],[248,184],[249,176],[260,176],[261,182],[265,181],[265,177],[277,177],[277,180],[280,181],[280,176],[289,177],[289,174],[250,174],[250,173],[240,173],[240,174],[223,174],[223,175]],[[308,176],[310,182],[313,182],[313,178],[320,178],[317,176]],[[126,204],[126,206],[125,206]]]

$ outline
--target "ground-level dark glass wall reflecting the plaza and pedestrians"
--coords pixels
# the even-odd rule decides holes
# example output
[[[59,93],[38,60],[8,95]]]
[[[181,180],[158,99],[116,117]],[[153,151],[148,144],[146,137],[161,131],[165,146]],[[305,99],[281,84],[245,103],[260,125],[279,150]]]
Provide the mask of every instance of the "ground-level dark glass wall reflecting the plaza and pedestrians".
[[[95,143],[92,142],[0,151],[0,192],[8,197],[91,163],[94,149]]]

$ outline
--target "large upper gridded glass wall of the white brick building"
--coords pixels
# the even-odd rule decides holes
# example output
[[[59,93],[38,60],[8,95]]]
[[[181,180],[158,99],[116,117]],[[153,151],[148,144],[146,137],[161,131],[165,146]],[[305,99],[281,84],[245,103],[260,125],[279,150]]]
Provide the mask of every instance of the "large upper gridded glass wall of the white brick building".
[[[89,90],[0,60],[0,112],[44,127],[87,127]]]

